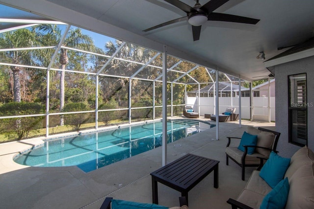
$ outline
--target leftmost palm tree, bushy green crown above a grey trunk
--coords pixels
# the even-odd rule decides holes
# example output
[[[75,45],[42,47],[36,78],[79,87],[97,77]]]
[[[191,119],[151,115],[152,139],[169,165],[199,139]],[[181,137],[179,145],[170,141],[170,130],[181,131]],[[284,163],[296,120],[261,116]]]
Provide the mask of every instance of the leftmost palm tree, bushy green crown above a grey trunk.
[[[22,48],[36,46],[35,33],[23,28],[14,31],[8,31],[0,34],[1,48]],[[6,58],[11,59],[12,64],[16,65],[32,65],[32,54],[30,50],[13,50],[4,51],[0,54]],[[21,102],[21,84],[20,84],[20,70],[22,67],[11,66],[13,72],[13,95],[15,102]]]

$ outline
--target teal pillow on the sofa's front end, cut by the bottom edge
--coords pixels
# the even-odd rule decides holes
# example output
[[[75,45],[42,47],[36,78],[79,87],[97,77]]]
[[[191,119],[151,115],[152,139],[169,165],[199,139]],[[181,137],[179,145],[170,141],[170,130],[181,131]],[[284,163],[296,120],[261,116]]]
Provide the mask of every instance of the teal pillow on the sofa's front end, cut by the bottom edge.
[[[260,209],[284,209],[289,194],[288,178],[281,180],[263,199]]]

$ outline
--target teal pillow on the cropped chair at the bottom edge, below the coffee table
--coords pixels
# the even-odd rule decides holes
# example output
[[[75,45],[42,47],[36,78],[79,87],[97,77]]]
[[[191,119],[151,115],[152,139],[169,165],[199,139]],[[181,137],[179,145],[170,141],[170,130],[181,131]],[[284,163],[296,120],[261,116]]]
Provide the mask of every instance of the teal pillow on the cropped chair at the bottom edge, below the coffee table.
[[[137,203],[125,200],[111,200],[112,209],[169,209],[168,207],[159,206],[156,204],[149,203]]]

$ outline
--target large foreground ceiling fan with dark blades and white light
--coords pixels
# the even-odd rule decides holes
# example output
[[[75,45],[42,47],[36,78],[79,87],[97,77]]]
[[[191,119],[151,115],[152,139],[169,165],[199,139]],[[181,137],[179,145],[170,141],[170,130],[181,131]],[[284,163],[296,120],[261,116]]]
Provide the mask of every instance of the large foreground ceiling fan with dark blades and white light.
[[[246,24],[256,24],[260,21],[253,18],[213,12],[214,10],[216,10],[218,7],[220,7],[229,0],[210,0],[203,6],[199,3],[199,0],[196,0],[196,4],[193,7],[183,3],[180,0],[165,0],[165,1],[183,10],[186,13],[186,16],[158,24],[154,27],[147,28],[143,30],[144,32],[154,30],[156,28],[166,26],[172,23],[178,23],[181,21],[188,20],[188,23],[192,25],[193,40],[197,41],[200,39],[202,24],[206,23],[206,21],[224,21]]]

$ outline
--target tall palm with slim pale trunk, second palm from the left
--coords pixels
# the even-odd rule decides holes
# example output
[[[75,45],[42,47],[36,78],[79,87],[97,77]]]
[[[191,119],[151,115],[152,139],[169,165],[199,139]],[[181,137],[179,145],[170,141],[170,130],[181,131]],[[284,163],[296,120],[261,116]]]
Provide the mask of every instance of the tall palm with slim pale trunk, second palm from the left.
[[[38,26],[34,26],[33,29],[37,31],[37,33],[42,34],[53,34],[56,38],[56,42],[59,43],[62,38],[62,30],[58,25],[53,24],[42,24]],[[92,52],[99,52],[101,51],[94,45],[93,39],[85,34],[82,34],[80,28],[71,28],[70,31],[67,33],[66,38],[62,42],[62,46],[66,47],[73,47],[80,50],[85,51],[92,51]],[[68,58],[68,49],[61,48],[60,49],[60,56],[59,56],[59,63],[60,63],[60,112],[64,107],[64,77],[66,69],[66,65],[69,63]],[[60,118],[60,125],[64,125],[63,116]]]

